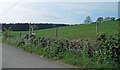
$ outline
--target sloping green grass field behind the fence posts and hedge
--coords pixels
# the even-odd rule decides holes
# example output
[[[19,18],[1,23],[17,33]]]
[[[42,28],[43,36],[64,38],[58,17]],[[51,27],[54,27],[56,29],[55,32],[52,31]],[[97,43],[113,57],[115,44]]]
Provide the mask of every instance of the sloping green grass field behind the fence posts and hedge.
[[[115,34],[118,32],[118,22],[104,22],[99,23],[99,33]],[[23,35],[27,32],[21,32]],[[19,36],[20,32],[12,32],[13,35]],[[55,28],[37,30],[37,37],[55,37]],[[96,25],[86,24],[86,25],[74,25],[59,27],[58,38],[68,38],[68,39],[95,39],[96,38]]]

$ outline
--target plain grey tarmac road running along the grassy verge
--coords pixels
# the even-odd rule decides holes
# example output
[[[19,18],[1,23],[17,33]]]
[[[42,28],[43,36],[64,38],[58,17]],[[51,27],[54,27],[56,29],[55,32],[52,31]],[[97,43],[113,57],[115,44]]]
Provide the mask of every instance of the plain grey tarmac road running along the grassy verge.
[[[71,68],[71,66],[2,44],[2,68]]]

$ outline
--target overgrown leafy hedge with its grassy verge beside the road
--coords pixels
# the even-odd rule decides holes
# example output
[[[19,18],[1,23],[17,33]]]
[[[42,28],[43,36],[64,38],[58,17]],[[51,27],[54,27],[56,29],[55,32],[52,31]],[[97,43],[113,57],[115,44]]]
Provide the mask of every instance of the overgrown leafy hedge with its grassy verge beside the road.
[[[120,67],[119,35],[98,34],[96,42],[53,38],[30,39],[19,43],[24,50],[78,67]],[[27,41],[24,38],[24,41]],[[12,41],[11,41],[12,42]]]

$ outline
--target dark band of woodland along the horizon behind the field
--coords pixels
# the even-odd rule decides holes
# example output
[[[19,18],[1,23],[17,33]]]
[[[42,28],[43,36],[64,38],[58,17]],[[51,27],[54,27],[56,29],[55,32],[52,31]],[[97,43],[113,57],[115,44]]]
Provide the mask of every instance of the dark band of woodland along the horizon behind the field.
[[[68,26],[67,24],[43,24],[43,23],[34,23],[34,24],[30,24],[30,26],[34,26],[35,29],[40,30],[40,29],[48,29],[48,28],[55,28],[55,27],[63,27],[63,26]],[[6,24],[3,23],[2,24],[2,30],[4,31],[4,29],[8,29],[11,28],[12,31],[26,31],[29,30],[29,23],[10,23],[10,24]]]

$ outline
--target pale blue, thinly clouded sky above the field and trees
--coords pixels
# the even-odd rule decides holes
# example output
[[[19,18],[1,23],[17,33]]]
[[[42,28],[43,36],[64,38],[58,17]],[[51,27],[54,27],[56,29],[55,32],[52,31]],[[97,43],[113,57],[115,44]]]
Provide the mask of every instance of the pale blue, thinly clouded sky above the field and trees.
[[[68,0],[66,2],[41,2],[43,0],[30,0],[31,2],[22,0],[4,1],[6,2],[0,4],[0,22],[80,24],[87,16],[90,16],[93,21],[96,21],[100,16],[118,17],[118,0],[116,2],[112,2],[113,0],[109,0],[109,2],[97,2],[96,0],[91,2],[85,0],[84,2],[83,0],[81,2],[70,2],[71,0],[69,2]]]

